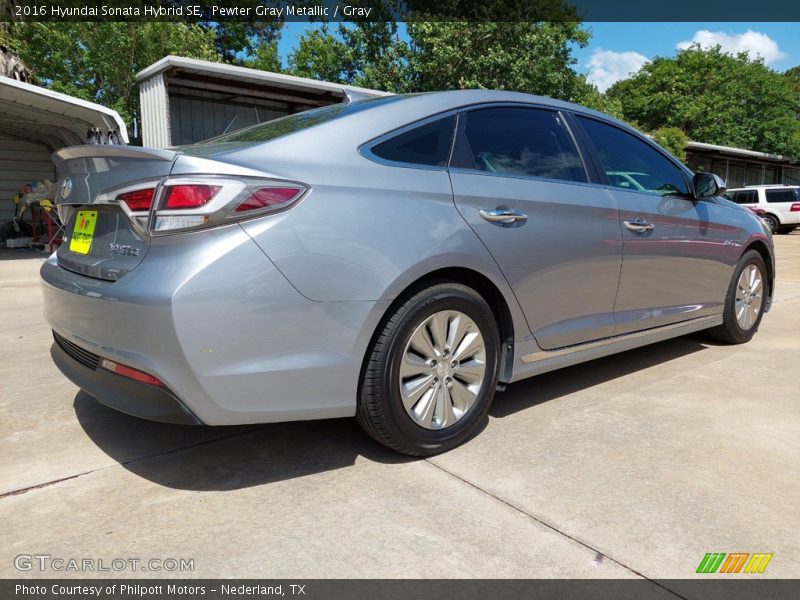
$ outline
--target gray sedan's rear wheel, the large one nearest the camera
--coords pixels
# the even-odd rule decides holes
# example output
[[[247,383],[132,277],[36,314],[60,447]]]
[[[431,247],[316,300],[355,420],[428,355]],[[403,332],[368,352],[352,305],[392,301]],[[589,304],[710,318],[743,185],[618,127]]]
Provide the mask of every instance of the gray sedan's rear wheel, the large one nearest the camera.
[[[367,356],[356,418],[380,443],[412,456],[462,444],[486,417],[500,335],[475,290],[440,283],[402,302]]]

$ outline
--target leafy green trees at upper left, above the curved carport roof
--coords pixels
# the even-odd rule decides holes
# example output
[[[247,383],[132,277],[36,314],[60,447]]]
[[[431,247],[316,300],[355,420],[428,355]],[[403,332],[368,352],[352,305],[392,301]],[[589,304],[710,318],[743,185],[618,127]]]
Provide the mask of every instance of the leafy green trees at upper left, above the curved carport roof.
[[[184,23],[30,22],[10,34],[38,83],[113,108],[129,126],[139,112],[137,72],[168,54],[218,56],[212,30]]]

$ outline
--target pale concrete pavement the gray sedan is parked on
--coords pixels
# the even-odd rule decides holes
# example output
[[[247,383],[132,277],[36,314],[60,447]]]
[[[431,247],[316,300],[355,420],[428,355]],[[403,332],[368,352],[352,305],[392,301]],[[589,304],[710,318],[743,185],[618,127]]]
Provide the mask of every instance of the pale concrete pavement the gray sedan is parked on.
[[[95,573],[124,577],[662,579],[707,552],[771,552],[762,577],[800,577],[800,232],[776,244],[753,342],[680,338],[515,384],[478,437],[428,460],[348,419],[191,428],[107,409],[50,361],[41,259],[6,252],[0,577],[92,576],[14,565],[46,554],[194,564]]]

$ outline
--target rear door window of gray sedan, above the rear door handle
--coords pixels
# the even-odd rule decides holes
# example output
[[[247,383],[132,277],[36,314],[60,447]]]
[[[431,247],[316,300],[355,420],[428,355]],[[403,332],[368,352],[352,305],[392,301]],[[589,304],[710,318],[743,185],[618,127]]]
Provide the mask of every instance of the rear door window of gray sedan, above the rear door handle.
[[[504,175],[587,181],[572,136],[558,113],[535,108],[484,108],[464,115],[454,167]]]

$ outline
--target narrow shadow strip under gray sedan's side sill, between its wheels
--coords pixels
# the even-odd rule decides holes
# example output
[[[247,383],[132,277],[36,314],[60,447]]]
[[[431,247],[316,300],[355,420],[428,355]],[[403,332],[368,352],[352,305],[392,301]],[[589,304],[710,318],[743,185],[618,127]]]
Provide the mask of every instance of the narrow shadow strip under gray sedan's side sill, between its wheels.
[[[505,393],[495,396],[489,414],[495,418],[507,417],[537,404],[700,352],[710,345],[713,343],[700,332],[550,371],[508,386]]]

